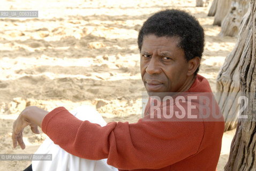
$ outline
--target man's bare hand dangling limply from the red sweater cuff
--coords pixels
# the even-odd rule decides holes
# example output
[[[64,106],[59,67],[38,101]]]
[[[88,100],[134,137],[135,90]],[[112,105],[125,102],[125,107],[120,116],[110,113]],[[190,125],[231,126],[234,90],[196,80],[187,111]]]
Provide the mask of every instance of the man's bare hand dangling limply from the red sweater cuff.
[[[19,143],[21,149],[25,149],[25,144],[22,138],[22,131],[26,126],[30,126],[31,130],[35,134],[40,134],[37,126],[42,125],[42,121],[44,116],[46,116],[49,112],[44,111],[36,106],[29,106],[23,110],[18,116],[17,120],[13,123],[12,129],[12,143],[13,147],[17,147],[17,142]]]

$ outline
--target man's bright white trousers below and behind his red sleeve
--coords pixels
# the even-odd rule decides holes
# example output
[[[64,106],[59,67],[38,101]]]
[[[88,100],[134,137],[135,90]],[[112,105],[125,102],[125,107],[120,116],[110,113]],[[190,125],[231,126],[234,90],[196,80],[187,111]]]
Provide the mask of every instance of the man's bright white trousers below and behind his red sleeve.
[[[107,123],[91,106],[80,106],[72,113],[80,120],[88,120],[92,123],[98,123],[105,126]],[[117,171],[118,169],[107,164],[107,159],[102,160],[87,160],[73,156],[67,153],[59,145],[54,144],[50,138],[47,138],[35,154],[52,154],[52,161],[32,161],[33,171],[46,170],[86,170],[86,171]]]

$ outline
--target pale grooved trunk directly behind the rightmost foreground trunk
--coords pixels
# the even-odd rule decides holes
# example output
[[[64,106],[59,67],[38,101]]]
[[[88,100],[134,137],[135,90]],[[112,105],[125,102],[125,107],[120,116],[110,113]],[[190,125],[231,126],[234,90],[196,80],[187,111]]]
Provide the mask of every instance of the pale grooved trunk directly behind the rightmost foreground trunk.
[[[252,19],[249,10],[239,28],[239,34],[234,49],[225,58],[224,64],[217,76],[216,100],[221,108],[225,120],[225,130],[236,128],[238,121],[238,98],[240,95],[239,84],[239,61],[242,53],[246,50],[245,37],[247,37]]]

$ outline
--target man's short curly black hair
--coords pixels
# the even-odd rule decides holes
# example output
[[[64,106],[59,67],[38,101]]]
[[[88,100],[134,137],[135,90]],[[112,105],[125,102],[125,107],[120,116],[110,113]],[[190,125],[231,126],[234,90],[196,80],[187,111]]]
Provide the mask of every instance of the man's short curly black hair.
[[[204,51],[204,29],[197,19],[185,11],[164,10],[149,17],[142,25],[138,35],[138,46],[141,46],[144,36],[154,34],[162,37],[177,36],[180,38],[178,46],[185,52],[185,59],[189,61],[195,57],[201,59]],[[199,71],[199,67],[195,74]]]

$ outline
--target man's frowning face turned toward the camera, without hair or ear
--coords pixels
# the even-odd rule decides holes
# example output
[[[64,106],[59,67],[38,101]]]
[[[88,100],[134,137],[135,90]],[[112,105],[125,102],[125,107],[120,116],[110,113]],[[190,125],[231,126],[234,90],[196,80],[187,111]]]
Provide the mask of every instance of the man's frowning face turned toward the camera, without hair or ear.
[[[179,37],[144,36],[140,53],[140,72],[148,94],[183,92],[187,88],[184,50],[177,45]]]

